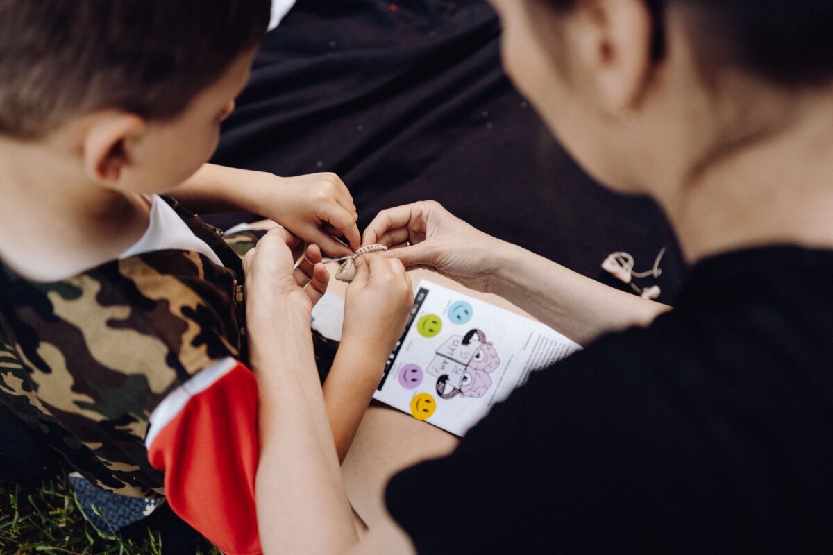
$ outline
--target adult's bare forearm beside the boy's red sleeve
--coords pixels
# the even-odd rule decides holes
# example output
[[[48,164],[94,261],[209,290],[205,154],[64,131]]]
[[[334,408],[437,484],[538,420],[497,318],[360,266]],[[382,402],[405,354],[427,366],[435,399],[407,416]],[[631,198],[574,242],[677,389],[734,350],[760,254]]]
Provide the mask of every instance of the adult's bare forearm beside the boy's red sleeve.
[[[340,553],[357,541],[352,510],[317,380],[309,322],[301,333],[302,323],[287,320],[250,326],[260,397],[261,541],[266,553]]]

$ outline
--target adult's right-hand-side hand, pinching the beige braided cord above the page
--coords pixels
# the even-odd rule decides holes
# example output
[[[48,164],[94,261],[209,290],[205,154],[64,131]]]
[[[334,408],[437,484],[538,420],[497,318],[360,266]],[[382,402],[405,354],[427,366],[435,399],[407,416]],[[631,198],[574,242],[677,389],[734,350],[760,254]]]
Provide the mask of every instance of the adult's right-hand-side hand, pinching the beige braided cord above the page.
[[[493,289],[498,253],[511,246],[476,230],[436,201],[379,212],[362,238],[362,245],[374,243],[392,247],[387,256],[402,260],[408,269],[433,270],[485,293]]]

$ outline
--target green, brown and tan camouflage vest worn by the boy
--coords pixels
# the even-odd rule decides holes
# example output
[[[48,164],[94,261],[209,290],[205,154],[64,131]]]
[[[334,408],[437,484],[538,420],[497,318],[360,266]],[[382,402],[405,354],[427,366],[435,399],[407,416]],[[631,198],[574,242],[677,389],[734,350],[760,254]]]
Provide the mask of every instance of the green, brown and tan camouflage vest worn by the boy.
[[[164,494],[144,446],[157,404],[217,360],[245,362],[237,252],[260,235],[227,243],[165,200],[224,266],[159,250],[44,284],[0,264],[0,402],[85,478],[132,497]]]

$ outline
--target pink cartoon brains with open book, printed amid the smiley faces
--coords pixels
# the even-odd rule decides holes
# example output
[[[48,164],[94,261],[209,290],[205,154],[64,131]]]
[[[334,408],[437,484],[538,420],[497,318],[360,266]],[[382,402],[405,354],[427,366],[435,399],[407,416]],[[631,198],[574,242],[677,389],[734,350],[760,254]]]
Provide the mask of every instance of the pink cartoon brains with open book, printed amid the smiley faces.
[[[442,399],[482,397],[491,387],[491,374],[501,364],[493,344],[482,330],[470,330],[446,340],[428,366],[436,377],[436,393]]]

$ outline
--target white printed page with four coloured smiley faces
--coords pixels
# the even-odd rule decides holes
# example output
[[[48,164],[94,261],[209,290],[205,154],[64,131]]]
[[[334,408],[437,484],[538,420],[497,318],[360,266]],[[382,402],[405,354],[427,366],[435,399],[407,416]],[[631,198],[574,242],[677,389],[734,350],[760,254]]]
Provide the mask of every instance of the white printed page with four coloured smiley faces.
[[[531,371],[577,349],[540,322],[422,280],[373,398],[461,436]]]

